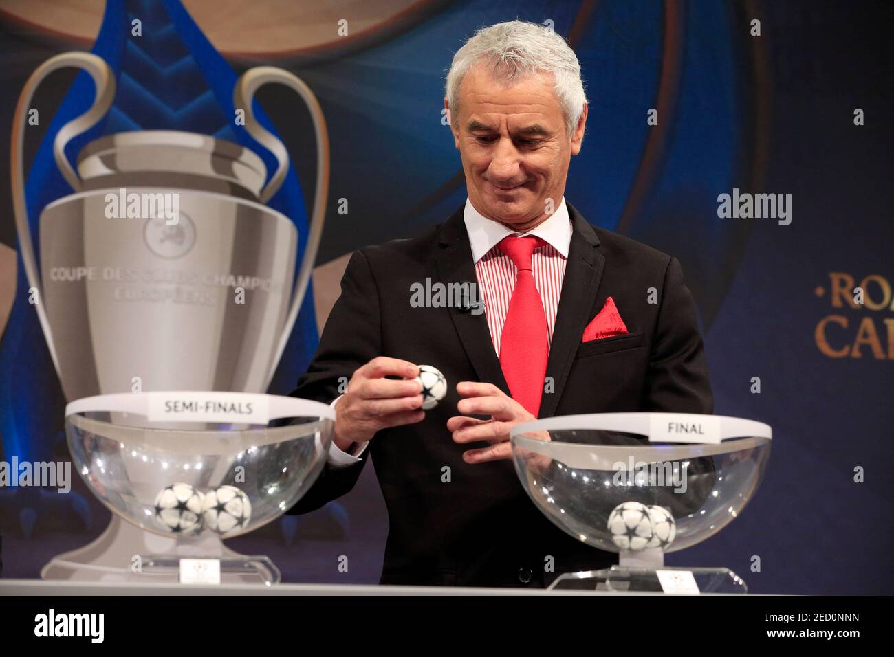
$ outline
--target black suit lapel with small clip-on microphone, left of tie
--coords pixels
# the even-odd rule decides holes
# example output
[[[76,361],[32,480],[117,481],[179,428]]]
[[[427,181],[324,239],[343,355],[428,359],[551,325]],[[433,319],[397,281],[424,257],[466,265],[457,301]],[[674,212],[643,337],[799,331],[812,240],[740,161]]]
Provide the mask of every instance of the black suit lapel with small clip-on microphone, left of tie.
[[[463,220],[463,206],[455,212],[438,233],[438,244],[435,246],[434,256],[438,277],[444,285],[451,282],[475,283],[475,263],[472,261],[472,248],[468,242],[466,223]],[[480,298],[480,293],[477,295]],[[502,374],[500,359],[493,350],[491,333],[487,328],[487,319],[484,313],[473,315],[461,308],[450,307],[453,326],[460,336],[463,348],[472,361],[475,372],[480,381],[490,382],[505,392],[509,392],[509,385]],[[581,329],[583,330],[583,329]]]

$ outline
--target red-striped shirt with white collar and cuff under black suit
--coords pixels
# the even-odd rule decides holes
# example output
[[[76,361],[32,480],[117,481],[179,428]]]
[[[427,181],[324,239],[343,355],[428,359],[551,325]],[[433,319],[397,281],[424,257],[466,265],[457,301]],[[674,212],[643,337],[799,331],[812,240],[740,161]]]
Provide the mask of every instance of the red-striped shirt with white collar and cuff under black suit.
[[[475,262],[475,275],[480,297],[485,302],[485,318],[487,329],[493,341],[493,350],[500,354],[500,336],[502,325],[509,310],[512,290],[515,288],[517,268],[509,256],[497,246],[500,241],[512,236],[533,235],[544,240],[542,246],[534,249],[531,269],[540,300],[544,304],[546,315],[547,339],[552,341],[552,329],[555,326],[556,310],[559,307],[561,285],[565,276],[565,264],[571,245],[571,220],[565,198],[555,212],[546,221],[527,233],[513,231],[502,223],[497,223],[481,215],[469,198],[463,209],[463,220],[466,223],[468,241],[472,249],[472,260]],[[340,400],[333,400],[332,406]],[[333,467],[348,467],[359,462],[359,456],[367,449],[367,442],[359,443],[352,453],[340,450],[333,442],[327,461]]]

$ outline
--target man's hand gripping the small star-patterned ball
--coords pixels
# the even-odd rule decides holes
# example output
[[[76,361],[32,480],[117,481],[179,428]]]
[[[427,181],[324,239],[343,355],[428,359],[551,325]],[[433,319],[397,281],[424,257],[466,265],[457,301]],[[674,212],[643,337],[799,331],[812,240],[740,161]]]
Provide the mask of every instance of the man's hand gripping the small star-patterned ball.
[[[386,379],[401,376],[407,381]],[[399,358],[379,356],[358,367],[335,405],[333,442],[349,451],[355,442],[367,442],[389,426],[412,425],[426,417],[422,406],[422,384],[414,379],[419,368]]]

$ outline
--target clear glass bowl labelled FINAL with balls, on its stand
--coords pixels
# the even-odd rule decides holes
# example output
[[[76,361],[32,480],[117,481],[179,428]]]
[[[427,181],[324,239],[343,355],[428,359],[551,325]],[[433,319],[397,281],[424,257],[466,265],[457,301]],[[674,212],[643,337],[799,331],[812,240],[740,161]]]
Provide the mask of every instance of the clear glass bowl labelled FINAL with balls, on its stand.
[[[746,593],[730,569],[665,567],[745,509],[770,459],[769,425],[738,417],[600,413],[510,430],[537,509],[617,565],[556,577],[551,588],[665,594]]]

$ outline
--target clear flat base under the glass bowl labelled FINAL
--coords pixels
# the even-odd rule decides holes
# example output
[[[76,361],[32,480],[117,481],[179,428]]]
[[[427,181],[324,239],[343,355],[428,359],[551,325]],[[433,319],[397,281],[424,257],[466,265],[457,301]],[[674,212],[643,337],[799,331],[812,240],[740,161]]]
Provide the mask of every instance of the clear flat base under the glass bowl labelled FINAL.
[[[612,566],[610,569],[564,573],[548,590],[605,591],[610,593],[664,594],[746,594],[741,577],[725,568],[639,568]]]

